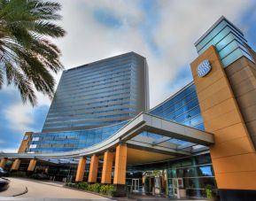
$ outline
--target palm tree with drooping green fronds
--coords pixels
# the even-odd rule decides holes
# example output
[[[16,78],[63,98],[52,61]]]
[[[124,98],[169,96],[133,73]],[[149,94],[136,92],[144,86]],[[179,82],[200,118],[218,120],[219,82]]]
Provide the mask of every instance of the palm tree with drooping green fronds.
[[[0,0],[0,88],[13,83],[23,103],[36,104],[35,90],[53,97],[52,72],[63,66],[49,39],[66,34],[54,24],[61,19],[60,8],[43,0]]]

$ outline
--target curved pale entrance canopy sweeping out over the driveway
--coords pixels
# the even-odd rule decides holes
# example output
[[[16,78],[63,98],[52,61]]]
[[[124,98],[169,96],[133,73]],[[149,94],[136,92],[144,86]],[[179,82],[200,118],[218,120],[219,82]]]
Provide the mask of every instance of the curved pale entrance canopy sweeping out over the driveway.
[[[150,134],[150,135],[149,135]],[[151,136],[154,137],[151,137]],[[50,153],[0,153],[1,158],[76,158],[102,154],[119,143],[131,149],[188,156],[214,143],[213,135],[142,112],[101,143],[76,151]]]

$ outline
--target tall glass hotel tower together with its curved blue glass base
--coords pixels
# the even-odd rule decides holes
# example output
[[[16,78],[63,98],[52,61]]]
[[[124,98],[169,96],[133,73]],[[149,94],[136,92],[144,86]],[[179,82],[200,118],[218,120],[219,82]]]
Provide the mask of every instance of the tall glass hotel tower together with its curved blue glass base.
[[[33,135],[27,151],[87,147],[148,109],[148,66],[144,57],[129,52],[74,67],[62,73],[42,133]]]

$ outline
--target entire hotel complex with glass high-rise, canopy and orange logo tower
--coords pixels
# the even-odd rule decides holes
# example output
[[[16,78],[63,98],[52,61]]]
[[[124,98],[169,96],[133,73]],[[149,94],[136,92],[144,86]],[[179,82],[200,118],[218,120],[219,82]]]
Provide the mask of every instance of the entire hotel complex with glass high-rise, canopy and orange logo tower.
[[[33,158],[27,165],[27,170],[32,171],[35,159],[45,163],[52,158],[74,158],[75,182],[112,183],[119,191],[169,197],[208,197],[210,189],[211,196],[221,200],[256,200],[256,53],[242,31],[224,17],[195,46],[198,58],[190,64],[193,81],[151,110],[147,110],[145,59],[135,53],[114,58],[137,57],[144,64],[135,71],[128,66],[128,77],[117,78],[122,83],[123,79],[131,81],[132,72],[142,70],[144,74],[140,83],[144,86],[129,88],[131,102],[116,103],[119,109],[140,108],[124,112],[128,116],[121,116],[120,111],[116,113],[118,117],[109,116],[113,113],[104,106],[112,107],[115,100],[106,104],[105,98],[109,97],[105,94],[98,100],[90,95],[97,92],[94,88],[89,91],[87,84],[81,89],[80,84],[75,85],[79,80],[74,78],[83,76],[83,71],[86,76],[97,76],[93,74],[97,71],[94,67],[78,67],[63,73],[42,134],[26,134],[22,151],[0,154],[0,166],[15,159],[11,169],[17,170],[21,159]],[[97,73],[105,72],[104,69]],[[114,69],[119,72],[122,68]],[[101,90],[100,83],[97,80],[92,85],[112,96],[107,92],[108,84]],[[133,89],[141,89],[142,94]],[[80,100],[76,96],[81,94],[86,99],[93,98],[90,102],[99,106],[93,108],[95,112],[105,114],[88,114],[91,106],[87,100],[85,109],[72,102],[73,97]],[[120,96],[120,92],[117,94]],[[135,107],[142,105],[139,103],[144,106]],[[84,117],[80,112],[89,119],[81,120]],[[26,152],[21,153],[26,146]]]

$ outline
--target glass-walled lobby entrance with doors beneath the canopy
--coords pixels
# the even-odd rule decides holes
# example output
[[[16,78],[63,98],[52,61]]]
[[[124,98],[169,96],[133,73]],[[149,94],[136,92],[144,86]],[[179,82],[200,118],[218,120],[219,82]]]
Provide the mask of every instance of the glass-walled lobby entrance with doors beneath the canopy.
[[[127,184],[129,192],[148,196],[205,198],[206,191],[218,196],[209,153],[128,166]]]

